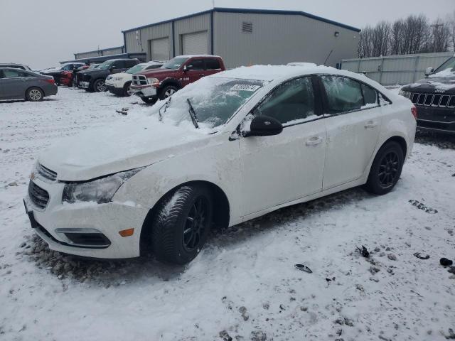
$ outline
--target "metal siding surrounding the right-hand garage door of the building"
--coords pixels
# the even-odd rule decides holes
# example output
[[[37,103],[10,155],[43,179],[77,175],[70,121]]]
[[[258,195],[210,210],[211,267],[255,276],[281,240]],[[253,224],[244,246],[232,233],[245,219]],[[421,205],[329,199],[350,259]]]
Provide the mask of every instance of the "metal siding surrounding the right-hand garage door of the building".
[[[185,33],[196,33],[201,31],[208,31],[208,51],[211,50],[210,43],[210,13],[201,16],[193,16],[192,18],[181,19],[174,22],[174,40],[176,55],[183,53],[181,45],[181,35]]]

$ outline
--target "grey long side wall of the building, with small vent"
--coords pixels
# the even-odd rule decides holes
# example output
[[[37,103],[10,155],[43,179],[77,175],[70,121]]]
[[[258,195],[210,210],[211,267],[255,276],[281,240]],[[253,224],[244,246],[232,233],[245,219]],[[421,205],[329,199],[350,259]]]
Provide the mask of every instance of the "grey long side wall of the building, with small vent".
[[[358,33],[299,15],[213,13],[214,53],[227,67],[312,62],[336,66],[357,53]],[[242,33],[242,23],[252,33]],[[335,37],[335,32],[340,36]],[[331,53],[332,50],[332,53]]]

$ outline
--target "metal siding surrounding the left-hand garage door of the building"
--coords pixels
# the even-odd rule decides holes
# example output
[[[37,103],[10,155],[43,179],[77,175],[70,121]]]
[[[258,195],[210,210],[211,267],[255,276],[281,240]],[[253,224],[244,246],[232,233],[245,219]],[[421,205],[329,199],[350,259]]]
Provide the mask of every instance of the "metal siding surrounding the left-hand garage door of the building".
[[[149,50],[149,40],[168,37],[172,38],[172,23],[163,23],[161,25],[141,28],[137,31],[125,32],[125,44],[127,52],[146,52],[147,60],[151,60]],[[172,44],[169,44],[169,55],[172,55]]]

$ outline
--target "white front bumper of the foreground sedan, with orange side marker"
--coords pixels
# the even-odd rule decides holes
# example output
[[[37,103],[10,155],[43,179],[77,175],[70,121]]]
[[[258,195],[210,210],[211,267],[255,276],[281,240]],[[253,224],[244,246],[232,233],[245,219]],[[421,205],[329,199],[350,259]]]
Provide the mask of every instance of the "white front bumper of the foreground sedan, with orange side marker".
[[[100,259],[140,255],[141,227],[149,210],[121,202],[62,203],[64,183],[48,183],[40,178],[31,181],[48,193],[49,200],[45,208],[40,208],[29,191],[23,199],[26,212],[31,226],[50,249]],[[124,229],[134,232],[122,237],[119,232]],[[92,243],[94,238],[96,244]]]

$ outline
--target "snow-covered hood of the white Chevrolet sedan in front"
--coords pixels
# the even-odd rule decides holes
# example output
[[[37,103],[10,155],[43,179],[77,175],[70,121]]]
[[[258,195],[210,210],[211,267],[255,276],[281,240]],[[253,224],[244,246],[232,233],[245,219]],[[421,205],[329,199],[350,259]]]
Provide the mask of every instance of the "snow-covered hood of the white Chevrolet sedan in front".
[[[191,123],[188,123],[191,124]],[[58,180],[83,181],[149,166],[208,143],[194,126],[173,126],[157,117],[120,121],[63,139],[38,157]]]

